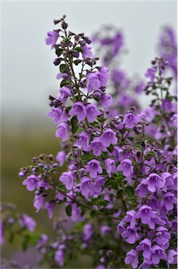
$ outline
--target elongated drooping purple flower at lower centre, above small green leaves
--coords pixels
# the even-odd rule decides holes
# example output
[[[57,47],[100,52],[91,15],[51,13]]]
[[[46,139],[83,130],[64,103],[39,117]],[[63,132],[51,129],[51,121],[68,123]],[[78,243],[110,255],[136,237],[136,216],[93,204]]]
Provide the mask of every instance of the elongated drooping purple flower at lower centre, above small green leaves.
[[[92,179],[84,176],[81,179],[80,192],[85,198],[89,198],[89,196],[94,194],[94,182]]]

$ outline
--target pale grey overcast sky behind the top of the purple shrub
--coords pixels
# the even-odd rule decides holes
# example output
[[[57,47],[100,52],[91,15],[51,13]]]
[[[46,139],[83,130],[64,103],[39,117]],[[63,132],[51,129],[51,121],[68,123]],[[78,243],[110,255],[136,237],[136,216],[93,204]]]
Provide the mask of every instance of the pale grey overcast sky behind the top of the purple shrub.
[[[45,45],[53,19],[67,15],[72,32],[91,36],[101,25],[124,29],[126,48],[122,68],[144,76],[156,56],[163,25],[177,27],[177,1],[3,1],[2,109],[3,115],[49,111],[47,97],[59,81],[54,50]]]

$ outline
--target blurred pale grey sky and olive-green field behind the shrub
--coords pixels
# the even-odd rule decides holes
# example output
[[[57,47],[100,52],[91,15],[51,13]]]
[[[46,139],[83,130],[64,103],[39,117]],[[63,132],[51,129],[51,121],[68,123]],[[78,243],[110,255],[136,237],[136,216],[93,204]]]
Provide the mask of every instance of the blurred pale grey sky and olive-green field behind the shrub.
[[[53,19],[64,14],[75,33],[92,36],[103,24],[123,30],[128,54],[121,67],[130,76],[144,77],[156,56],[161,27],[177,27],[177,1],[2,2],[1,201],[13,202],[19,212],[34,217],[36,230],[48,235],[52,221],[47,212],[36,214],[34,194],[22,186],[18,172],[32,157],[60,150],[56,126],[46,117],[48,95],[57,94],[59,81],[45,36],[55,28]],[[20,253],[16,244],[5,244],[2,255],[12,257],[12,250]]]

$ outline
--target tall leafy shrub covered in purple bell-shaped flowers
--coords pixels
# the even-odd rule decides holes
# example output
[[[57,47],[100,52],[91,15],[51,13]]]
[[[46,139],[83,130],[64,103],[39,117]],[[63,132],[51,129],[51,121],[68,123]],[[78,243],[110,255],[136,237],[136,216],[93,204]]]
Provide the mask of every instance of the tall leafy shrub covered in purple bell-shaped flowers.
[[[61,151],[56,157],[36,156],[19,175],[34,191],[36,212],[45,209],[52,218],[54,209],[64,205],[71,228],[55,219],[54,240],[36,237],[41,262],[63,268],[87,254],[94,268],[175,268],[177,97],[170,90],[177,68],[175,36],[165,29],[161,55],[146,71],[147,81],[132,84],[116,67],[124,46],[121,32],[94,36],[94,45],[103,50],[99,66],[89,37],[68,31],[65,16],[54,24],[61,27],[48,32],[45,42],[57,55],[60,88],[49,97],[47,116],[57,124]],[[148,108],[139,104],[140,92],[152,95]],[[59,174],[64,163],[68,169]],[[2,232],[7,222],[2,219]],[[34,230],[29,216],[22,223]]]

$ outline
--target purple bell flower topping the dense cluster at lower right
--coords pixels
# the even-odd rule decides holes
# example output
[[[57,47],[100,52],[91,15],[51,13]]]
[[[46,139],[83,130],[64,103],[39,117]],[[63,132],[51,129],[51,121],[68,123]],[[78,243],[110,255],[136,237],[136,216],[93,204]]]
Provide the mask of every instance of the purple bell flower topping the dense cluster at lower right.
[[[155,223],[153,219],[156,218],[155,212],[152,210],[151,207],[147,205],[142,205],[140,207],[139,212],[136,214],[136,219],[141,219],[143,224],[148,224],[149,228],[154,229]]]

